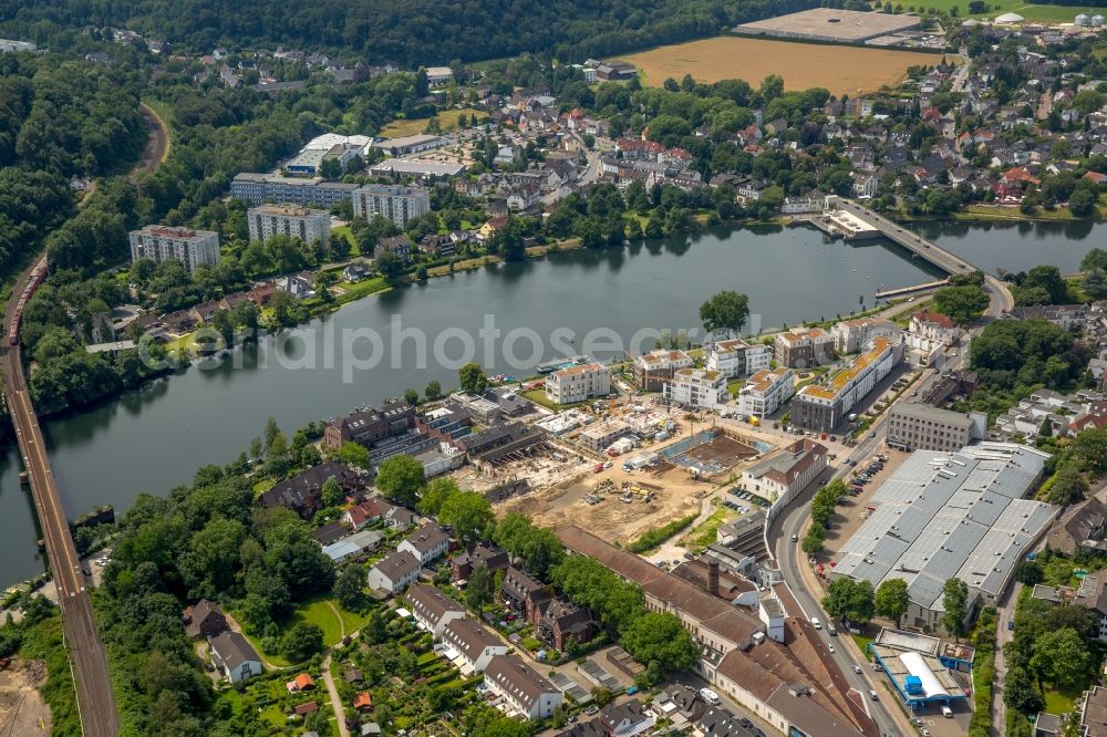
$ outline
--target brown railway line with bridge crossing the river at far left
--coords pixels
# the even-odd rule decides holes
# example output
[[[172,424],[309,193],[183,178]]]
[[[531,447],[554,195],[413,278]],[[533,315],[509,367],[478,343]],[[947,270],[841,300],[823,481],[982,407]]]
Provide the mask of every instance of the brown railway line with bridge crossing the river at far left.
[[[45,257],[42,257],[42,261]],[[21,294],[30,278],[30,269],[15,283],[12,294]],[[15,319],[15,302],[10,300],[4,312],[3,334],[7,339]],[[22,359],[18,345],[3,345],[4,394],[19,440],[23,465],[31,482],[34,509],[46,543],[46,558],[58,587],[62,610],[65,644],[76,684],[77,708],[86,737],[111,737],[118,733],[115,697],[107,674],[107,653],[96,630],[92,600],[85,588],[81,559],[70,536],[69,519],[58,496],[58,485],[39,421],[31,405]]]

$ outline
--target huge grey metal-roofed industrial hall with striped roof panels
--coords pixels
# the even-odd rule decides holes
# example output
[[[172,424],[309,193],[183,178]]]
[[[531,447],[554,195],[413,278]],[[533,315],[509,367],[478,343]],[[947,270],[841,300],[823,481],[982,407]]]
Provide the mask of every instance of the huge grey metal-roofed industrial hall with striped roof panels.
[[[872,496],[875,510],[838,552],[832,575],[908,583],[906,623],[941,626],[942,588],[956,577],[970,600],[994,603],[1057,508],[1024,499],[1048,455],[1013,443],[958,453],[917,450]]]

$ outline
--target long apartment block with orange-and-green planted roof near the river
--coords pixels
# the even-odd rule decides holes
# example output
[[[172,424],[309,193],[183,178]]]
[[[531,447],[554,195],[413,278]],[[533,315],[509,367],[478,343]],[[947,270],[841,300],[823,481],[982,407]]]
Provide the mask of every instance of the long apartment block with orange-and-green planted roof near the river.
[[[805,386],[792,401],[792,424],[829,433],[903,359],[899,341],[876,338],[826,384]]]

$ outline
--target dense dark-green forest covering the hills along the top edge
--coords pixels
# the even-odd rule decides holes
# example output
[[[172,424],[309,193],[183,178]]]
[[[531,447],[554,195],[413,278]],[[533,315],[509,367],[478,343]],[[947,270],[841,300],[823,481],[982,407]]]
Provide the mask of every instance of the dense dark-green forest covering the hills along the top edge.
[[[27,0],[0,3],[0,35],[60,49],[74,29],[127,28],[182,51],[251,45],[335,52],[408,68],[524,52],[580,62],[718,33],[736,23],[803,10],[809,0]]]

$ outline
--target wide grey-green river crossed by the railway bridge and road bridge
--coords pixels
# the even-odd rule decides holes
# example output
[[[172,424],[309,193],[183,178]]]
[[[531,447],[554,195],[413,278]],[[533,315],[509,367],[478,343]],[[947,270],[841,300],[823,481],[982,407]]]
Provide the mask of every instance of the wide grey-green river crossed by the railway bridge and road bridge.
[[[1107,236],[1107,226],[1092,224],[915,227],[993,272],[1038,263],[1073,272]],[[717,230],[613,252],[552,253],[351,303],[267,336],[215,367],[193,366],[48,421],[43,433],[70,516],[107,502],[122,513],[138,491],[163,494],[187,484],[201,465],[231,460],[260,435],[268,417],[291,435],[312,419],[408,387],[422,392],[432,378],[454,386],[456,366],[468,359],[490,374],[526,375],[558,355],[610,359],[622,350],[640,352],[655,334],[643,331],[697,329],[700,303],[720,289],[748,294],[749,328],[762,330],[847,314],[862,299],[871,307],[882,286],[933,277],[891,243],[829,242],[805,228]],[[0,449],[6,585],[42,570],[30,498],[19,487],[18,471],[14,449]]]

